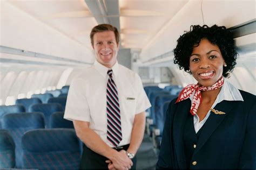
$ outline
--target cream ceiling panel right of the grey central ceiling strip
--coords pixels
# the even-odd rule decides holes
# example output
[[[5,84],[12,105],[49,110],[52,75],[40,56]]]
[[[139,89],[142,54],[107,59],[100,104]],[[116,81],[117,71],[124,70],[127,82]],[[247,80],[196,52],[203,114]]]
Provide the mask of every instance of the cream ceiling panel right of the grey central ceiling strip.
[[[120,27],[125,34],[123,46],[143,48],[186,3],[172,0],[119,0]]]

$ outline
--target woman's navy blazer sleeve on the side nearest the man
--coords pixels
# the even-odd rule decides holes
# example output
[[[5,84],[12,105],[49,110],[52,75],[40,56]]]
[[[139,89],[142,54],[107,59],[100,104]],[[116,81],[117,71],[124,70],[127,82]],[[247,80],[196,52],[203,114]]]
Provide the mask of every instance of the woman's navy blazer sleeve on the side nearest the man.
[[[176,100],[174,99],[170,104],[169,108],[166,111],[166,118],[165,118],[165,125],[163,130],[163,137],[161,139],[161,146],[160,146],[160,152],[158,157],[158,162],[156,165],[156,169],[172,169],[172,122],[173,122],[173,107],[174,102]]]

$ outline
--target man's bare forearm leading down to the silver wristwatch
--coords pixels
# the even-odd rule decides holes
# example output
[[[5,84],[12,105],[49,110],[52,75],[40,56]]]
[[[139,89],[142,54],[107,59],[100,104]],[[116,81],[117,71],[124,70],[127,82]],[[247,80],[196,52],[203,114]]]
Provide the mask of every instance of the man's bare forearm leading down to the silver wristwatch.
[[[128,152],[136,154],[136,152],[138,151],[138,148],[142,143],[143,136],[144,136],[145,121],[146,121],[145,112],[141,112],[135,115],[132,134],[131,134],[131,140],[130,140],[130,146],[127,150]]]

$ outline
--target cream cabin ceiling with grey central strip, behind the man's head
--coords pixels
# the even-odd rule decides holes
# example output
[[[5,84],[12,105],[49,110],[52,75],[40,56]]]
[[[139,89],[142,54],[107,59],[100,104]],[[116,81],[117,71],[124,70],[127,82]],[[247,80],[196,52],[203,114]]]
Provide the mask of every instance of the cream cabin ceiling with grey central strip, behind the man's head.
[[[92,27],[109,23],[120,31],[122,48],[142,49],[188,0],[10,0],[9,2],[87,47],[91,46]]]

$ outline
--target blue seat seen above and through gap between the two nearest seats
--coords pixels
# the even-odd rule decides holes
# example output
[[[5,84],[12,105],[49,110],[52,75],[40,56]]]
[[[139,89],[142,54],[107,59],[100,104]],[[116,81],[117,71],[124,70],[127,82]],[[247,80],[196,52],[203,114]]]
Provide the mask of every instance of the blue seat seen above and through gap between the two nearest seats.
[[[40,112],[6,114],[2,119],[2,128],[8,130],[15,141],[16,168],[21,168],[21,138],[28,130],[44,128],[44,115]]]

